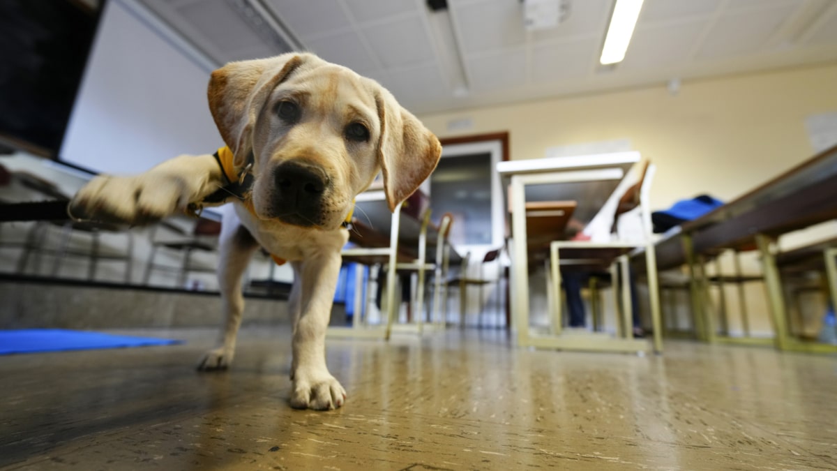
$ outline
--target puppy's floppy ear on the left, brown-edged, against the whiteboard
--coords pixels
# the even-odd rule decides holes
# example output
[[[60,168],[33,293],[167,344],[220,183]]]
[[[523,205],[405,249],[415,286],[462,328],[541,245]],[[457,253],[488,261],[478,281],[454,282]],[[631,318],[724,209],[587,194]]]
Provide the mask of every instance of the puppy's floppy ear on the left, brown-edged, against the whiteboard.
[[[235,167],[243,167],[253,150],[256,116],[276,85],[311,59],[310,54],[281,54],[270,59],[230,62],[213,71],[207,91],[209,111],[223,142],[233,151]]]

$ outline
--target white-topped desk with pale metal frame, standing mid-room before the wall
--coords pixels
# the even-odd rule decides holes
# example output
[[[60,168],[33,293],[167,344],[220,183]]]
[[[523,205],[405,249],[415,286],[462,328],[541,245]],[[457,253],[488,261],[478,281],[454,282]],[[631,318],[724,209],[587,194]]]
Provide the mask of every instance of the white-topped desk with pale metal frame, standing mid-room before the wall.
[[[547,199],[576,200],[576,215],[592,215],[613,194],[629,168],[640,159],[637,152],[608,153],[567,158],[538,158],[508,161],[497,164],[497,172],[511,184],[508,198],[511,203],[511,313],[516,329],[517,344],[542,348],[573,348],[573,340],[556,347],[553,339],[533,334],[529,325],[529,273],[526,237],[526,199],[529,189],[540,187],[549,192]],[[556,185],[562,184],[562,185]],[[550,185],[547,187],[547,185]],[[564,187],[562,189],[562,186]],[[598,189],[597,198],[579,198],[567,190],[589,192]],[[604,189],[604,191],[602,191]],[[593,207],[591,202],[598,202]],[[585,216],[580,216],[581,219]],[[547,292],[548,294],[548,292]],[[635,345],[629,345],[634,349]]]

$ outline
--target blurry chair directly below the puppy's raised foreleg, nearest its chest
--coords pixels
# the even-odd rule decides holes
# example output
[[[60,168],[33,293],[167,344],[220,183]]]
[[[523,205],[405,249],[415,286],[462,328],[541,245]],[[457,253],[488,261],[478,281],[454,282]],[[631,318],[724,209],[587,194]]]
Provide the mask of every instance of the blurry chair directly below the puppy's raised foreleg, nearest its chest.
[[[159,230],[164,229],[169,235],[158,238]],[[142,277],[142,283],[148,285],[151,282],[151,272],[155,269],[177,271],[177,287],[186,287],[186,277],[189,272],[216,272],[217,267],[199,267],[193,264],[192,258],[195,252],[212,253],[218,250],[218,235],[221,233],[221,223],[214,220],[199,218],[192,230],[184,230],[181,226],[170,221],[163,220],[151,228],[149,239],[151,240],[151,253],[146,261],[146,271]],[[172,237],[171,234],[174,234]],[[177,251],[182,253],[180,267],[162,265],[155,262],[160,249]]]

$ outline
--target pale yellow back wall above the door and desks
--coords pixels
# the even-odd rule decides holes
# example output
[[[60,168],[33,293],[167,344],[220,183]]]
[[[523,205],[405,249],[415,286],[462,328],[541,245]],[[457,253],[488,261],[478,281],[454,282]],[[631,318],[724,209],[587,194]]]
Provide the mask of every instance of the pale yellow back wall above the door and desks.
[[[686,81],[590,96],[420,116],[439,137],[507,131],[511,158],[628,138],[658,167],[652,206],[709,193],[732,199],[814,154],[806,116],[837,111],[837,65]],[[474,127],[447,131],[469,117]]]

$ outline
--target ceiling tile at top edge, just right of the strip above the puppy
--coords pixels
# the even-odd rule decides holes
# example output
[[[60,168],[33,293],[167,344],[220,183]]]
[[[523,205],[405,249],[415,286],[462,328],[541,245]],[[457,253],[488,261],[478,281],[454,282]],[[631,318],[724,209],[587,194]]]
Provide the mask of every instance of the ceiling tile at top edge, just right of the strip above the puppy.
[[[265,0],[265,3],[303,41],[351,27],[337,0]]]

